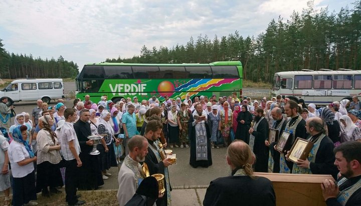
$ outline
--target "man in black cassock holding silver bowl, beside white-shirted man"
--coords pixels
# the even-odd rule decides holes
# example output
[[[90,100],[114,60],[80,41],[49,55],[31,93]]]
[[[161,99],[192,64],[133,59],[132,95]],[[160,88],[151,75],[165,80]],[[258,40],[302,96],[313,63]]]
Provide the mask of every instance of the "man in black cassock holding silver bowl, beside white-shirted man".
[[[74,124],[74,130],[78,137],[80,145],[79,158],[82,161],[82,166],[79,167],[80,179],[78,188],[80,190],[98,189],[98,186],[104,184],[102,173],[99,164],[99,155],[90,155],[89,152],[93,149],[93,140],[87,137],[91,135],[89,124],[90,113],[88,109],[80,111],[79,120]]]

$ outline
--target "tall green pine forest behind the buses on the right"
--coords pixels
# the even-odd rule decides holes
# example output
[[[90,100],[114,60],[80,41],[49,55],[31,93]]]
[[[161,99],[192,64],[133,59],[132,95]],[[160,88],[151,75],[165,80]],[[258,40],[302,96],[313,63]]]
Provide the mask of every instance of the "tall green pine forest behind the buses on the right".
[[[258,37],[242,37],[238,31],[213,40],[207,35],[191,37],[186,45],[161,46],[149,50],[145,45],[139,56],[106,59],[125,63],[210,63],[239,60],[243,78],[272,82],[280,71],[321,68],[361,69],[361,1],[354,8],[342,8],[338,14],[328,9],[315,11],[313,2],[288,21],[271,20]]]

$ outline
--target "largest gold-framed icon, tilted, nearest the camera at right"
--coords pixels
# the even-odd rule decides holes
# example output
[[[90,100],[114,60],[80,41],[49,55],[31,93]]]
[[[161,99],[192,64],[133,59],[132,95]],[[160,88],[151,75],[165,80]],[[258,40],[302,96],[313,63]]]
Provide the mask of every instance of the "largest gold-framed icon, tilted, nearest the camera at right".
[[[311,141],[297,137],[288,154],[288,159],[294,163],[297,163],[297,159],[306,160],[312,147]]]

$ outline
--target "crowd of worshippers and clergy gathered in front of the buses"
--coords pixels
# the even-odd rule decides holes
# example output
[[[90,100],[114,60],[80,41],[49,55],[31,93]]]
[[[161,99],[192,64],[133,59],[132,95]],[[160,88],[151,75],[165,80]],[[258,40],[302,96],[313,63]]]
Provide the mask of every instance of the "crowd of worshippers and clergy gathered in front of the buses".
[[[170,205],[167,167],[172,163],[164,156],[167,147],[190,148],[190,164],[195,168],[212,165],[212,149],[228,147],[227,161],[235,176],[252,177],[252,172],[256,171],[350,178],[353,176],[342,173],[344,171],[338,176],[341,166],[336,162],[341,161],[341,157],[337,159],[337,154],[341,152],[346,162],[353,158],[361,163],[357,159],[359,156],[346,157],[343,149],[337,150],[345,142],[361,141],[361,104],[357,97],[351,102],[344,99],[317,108],[313,103],[305,105],[302,99],[295,102],[277,96],[252,101],[250,97],[238,98],[237,93],[229,97],[200,96],[193,100],[187,95],[183,101],[168,96],[159,101],[153,96],[149,100],[138,101],[133,97],[118,102],[107,100],[104,95],[97,103],[86,95],[84,101],[75,99],[73,108],[66,108],[62,99],[54,106],[38,100],[31,114],[23,112],[15,116],[14,106],[6,105],[7,98],[0,100],[4,134],[0,136],[0,164],[3,165],[0,190],[4,191],[6,204],[11,203],[9,162],[13,205],[37,205],[37,192],[50,197],[52,193],[61,192],[57,187],[64,184],[68,204],[84,204],[77,189],[97,189],[112,175],[110,167],[121,162],[117,193],[120,205],[133,199],[138,185],[146,177],[143,162],[150,175],[164,175],[165,192],[152,199],[157,205]],[[278,131],[273,140],[269,137],[270,128]],[[280,146],[278,141],[285,134],[287,141]],[[89,154],[94,144],[88,139],[90,135],[103,137],[97,145],[99,155]],[[297,137],[312,142],[313,147],[305,160],[294,162],[290,161],[289,152]],[[338,151],[336,158],[334,151]],[[215,200],[214,193],[224,190],[221,182],[233,180],[211,182],[204,204],[221,205],[214,202],[222,199],[222,195]],[[253,178],[239,181],[251,185],[247,182]],[[268,187],[265,198],[274,202],[273,187],[269,183],[262,179],[255,186]],[[359,177],[353,183],[359,186]],[[329,188],[329,182],[324,182],[324,193]],[[358,189],[357,195],[360,192]]]

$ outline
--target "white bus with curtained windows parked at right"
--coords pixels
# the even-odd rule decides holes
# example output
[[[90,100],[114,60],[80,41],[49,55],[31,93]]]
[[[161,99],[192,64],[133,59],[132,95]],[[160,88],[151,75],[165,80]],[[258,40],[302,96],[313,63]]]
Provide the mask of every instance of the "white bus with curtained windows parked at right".
[[[328,105],[347,96],[361,94],[361,70],[303,69],[297,72],[277,72],[271,93],[272,96],[302,98],[306,104]]]

